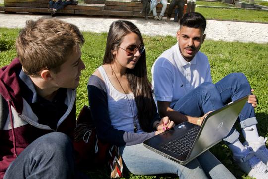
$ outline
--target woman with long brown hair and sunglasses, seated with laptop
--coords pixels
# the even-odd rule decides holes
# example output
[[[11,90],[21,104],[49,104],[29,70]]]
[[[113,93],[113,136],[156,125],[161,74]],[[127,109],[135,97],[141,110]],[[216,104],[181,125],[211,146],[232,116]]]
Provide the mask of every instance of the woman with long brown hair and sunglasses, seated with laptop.
[[[182,166],[147,148],[142,142],[173,126],[160,118],[147,78],[145,45],[139,29],[129,21],[111,24],[103,65],[88,82],[88,99],[98,137],[117,145],[127,169],[137,175],[172,173],[183,178],[207,178],[199,161]],[[212,156],[212,157],[211,157]],[[209,175],[233,178],[210,153]],[[216,162],[210,162],[210,161]],[[228,173],[229,172],[229,173]],[[227,176],[226,176],[227,175]]]

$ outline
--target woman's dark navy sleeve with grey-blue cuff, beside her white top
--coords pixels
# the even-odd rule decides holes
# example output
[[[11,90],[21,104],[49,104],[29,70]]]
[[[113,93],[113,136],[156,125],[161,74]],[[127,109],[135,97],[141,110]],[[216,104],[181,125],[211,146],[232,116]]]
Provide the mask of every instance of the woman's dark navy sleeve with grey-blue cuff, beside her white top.
[[[92,75],[89,78],[87,90],[92,119],[96,125],[97,135],[101,140],[117,146],[134,145],[155,135],[154,132],[138,134],[125,132],[112,126],[105,83],[99,77]]]

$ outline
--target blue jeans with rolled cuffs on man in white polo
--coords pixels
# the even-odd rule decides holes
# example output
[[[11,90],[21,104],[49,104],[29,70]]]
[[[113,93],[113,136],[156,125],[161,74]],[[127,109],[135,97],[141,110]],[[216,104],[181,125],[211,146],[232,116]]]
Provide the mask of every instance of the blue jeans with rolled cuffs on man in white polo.
[[[243,73],[231,73],[216,84],[205,82],[172,106],[176,111],[189,116],[203,116],[205,113],[216,110],[231,101],[251,94],[251,87]],[[242,128],[257,124],[254,108],[246,103],[239,114]],[[239,137],[239,133],[232,128],[224,141],[233,143]]]

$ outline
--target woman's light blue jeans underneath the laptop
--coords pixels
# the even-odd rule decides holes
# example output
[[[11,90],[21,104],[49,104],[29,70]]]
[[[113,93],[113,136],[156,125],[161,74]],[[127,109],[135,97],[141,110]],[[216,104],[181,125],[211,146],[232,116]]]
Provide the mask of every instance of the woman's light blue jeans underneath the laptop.
[[[209,151],[186,165],[159,155],[143,144],[120,147],[127,169],[135,175],[176,174],[180,179],[235,179],[232,173]]]

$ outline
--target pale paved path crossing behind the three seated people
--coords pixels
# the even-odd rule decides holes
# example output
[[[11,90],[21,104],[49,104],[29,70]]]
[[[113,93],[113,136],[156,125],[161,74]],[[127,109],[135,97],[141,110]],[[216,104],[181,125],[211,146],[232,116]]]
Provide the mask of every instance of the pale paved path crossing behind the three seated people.
[[[4,14],[0,13],[0,27],[22,28],[26,20],[36,20],[40,17],[51,18],[49,15]],[[85,16],[57,16],[69,23],[73,23],[82,31],[108,32],[110,24],[122,18],[100,18]],[[179,24],[177,22],[144,20],[142,18],[128,18],[146,35],[175,36]],[[207,20],[206,39],[223,41],[240,41],[268,43],[268,24]]]

